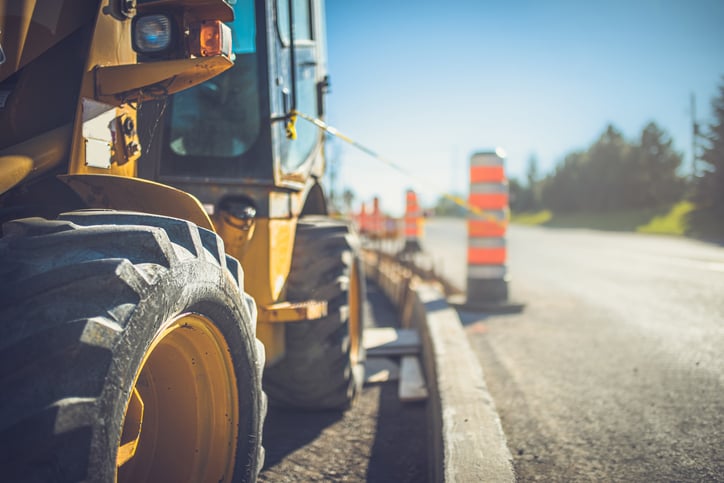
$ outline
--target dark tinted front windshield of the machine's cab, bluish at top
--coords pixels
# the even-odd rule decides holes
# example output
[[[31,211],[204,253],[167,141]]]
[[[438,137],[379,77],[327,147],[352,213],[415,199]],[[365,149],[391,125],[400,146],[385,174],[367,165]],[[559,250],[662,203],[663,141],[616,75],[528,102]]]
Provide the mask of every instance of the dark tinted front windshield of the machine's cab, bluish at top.
[[[260,130],[259,80],[253,0],[230,2],[234,66],[223,74],[174,95],[167,149],[179,157],[213,162],[237,158],[254,145]],[[174,163],[174,174],[200,174],[203,166]],[[183,167],[193,166],[193,173]],[[210,168],[211,171],[216,171]],[[210,173],[209,173],[210,174]],[[216,173],[219,174],[219,173]]]

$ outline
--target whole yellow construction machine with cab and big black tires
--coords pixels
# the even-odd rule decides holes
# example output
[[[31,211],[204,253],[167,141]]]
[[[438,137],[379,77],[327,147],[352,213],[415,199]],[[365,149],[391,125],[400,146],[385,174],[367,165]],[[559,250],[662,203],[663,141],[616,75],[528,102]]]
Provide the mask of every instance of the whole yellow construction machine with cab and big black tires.
[[[267,403],[352,404],[323,13],[0,0],[0,480],[250,481]]]

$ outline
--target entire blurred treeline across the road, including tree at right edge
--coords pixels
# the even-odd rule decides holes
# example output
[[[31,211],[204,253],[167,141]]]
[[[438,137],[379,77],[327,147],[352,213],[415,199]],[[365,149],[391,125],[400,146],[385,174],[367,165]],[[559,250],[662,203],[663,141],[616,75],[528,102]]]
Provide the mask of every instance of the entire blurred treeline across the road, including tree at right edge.
[[[527,179],[510,180],[511,209],[611,212],[689,199],[697,206],[694,224],[698,215],[705,215],[709,224],[724,225],[724,78],[712,114],[712,122],[697,132],[700,150],[693,177],[682,173],[682,154],[656,123],[634,140],[609,125],[587,150],[568,154],[547,176],[538,176],[537,160],[531,158]]]

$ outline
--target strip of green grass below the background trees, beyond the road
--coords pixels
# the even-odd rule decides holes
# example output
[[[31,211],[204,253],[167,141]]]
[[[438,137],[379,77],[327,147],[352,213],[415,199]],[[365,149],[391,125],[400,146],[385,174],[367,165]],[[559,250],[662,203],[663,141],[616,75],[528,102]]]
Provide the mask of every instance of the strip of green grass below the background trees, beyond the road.
[[[612,213],[516,213],[511,221],[523,225],[543,225],[555,228],[591,228],[594,230],[632,231],[662,235],[687,234],[687,216],[694,209],[688,201],[663,209],[629,210]]]

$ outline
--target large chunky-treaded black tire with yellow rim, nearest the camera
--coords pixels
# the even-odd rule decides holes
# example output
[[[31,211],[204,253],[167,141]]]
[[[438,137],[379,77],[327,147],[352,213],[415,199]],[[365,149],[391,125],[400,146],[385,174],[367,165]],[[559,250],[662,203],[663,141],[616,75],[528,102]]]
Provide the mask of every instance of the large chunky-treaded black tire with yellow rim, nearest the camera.
[[[3,481],[256,479],[264,352],[219,237],[111,210],[3,229]]]

